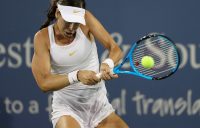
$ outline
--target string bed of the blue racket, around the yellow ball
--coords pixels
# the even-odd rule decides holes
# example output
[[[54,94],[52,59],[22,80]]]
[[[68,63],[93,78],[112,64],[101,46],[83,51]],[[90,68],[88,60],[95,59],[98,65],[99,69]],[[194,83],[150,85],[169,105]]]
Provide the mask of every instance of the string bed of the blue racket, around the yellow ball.
[[[164,77],[177,68],[178,54],[174,44],[168,39],[158,36],[142,40],[135,48],[132,59],[137,72],[151,77]],[[141,65],[143,56],[151,56],[155,61],[152,68],[144,68]]]

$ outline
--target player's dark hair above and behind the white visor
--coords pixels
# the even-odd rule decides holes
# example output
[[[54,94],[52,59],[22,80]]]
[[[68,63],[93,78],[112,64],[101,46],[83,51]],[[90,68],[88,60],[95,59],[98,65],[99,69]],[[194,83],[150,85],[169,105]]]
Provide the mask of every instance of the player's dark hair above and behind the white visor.
[[[55,20],[55,12],[57,9],[57,3],[61,5],[74,6],[74,7],[82,7],[85,9],[85,0],[51,0],[50,7],[47,13],[47,19],[44,24],[40,27],[40,29],[49,26],[49,24]]]

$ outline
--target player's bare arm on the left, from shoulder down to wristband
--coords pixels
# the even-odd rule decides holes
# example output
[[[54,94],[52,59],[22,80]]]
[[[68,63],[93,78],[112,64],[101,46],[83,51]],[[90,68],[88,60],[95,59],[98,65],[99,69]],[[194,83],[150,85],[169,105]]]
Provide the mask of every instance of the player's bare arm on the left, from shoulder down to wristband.
[[[49,55],[49,45],[43,29],[35,34],[34,55],[32,58],[32,72],[34,78],[44,92],[59,90],[69,85],[67,75],[52,75]],[[55,86],[56,85],[56,86]]]

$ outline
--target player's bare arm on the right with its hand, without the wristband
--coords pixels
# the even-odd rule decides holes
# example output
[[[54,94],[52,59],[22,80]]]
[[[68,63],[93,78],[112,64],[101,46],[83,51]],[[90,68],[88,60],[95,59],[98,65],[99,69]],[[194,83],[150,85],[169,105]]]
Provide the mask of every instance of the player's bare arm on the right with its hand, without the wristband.
[[[86,11],[85,14],[86,25],[89,28],[89,32],[109,51],[109,58],[113,60],[114,65],[117,65],[122,58],[122,51],[110,36],[110,34],[105,30],[103,25],[89,12]],[[101,71],[104,71],[103,79],[111,79],[110,68],[107,64],[101,65]]]

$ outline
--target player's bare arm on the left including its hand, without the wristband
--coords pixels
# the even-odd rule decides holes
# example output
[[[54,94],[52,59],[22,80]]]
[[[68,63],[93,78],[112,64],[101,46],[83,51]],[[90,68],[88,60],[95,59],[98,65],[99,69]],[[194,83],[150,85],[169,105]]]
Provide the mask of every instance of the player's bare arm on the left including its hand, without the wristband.
[[[45,32],[42,31],[36,33],[34,37],[32,72],[38,86],[43,92],[56,91],[69,86],[70,82],[67,75],[51,74],[48,35],[45,35]],[[77,75],[79,81],[86,85],[94,85],[99,82],[95,76],[96,73],[93,71],[81,70]]]

